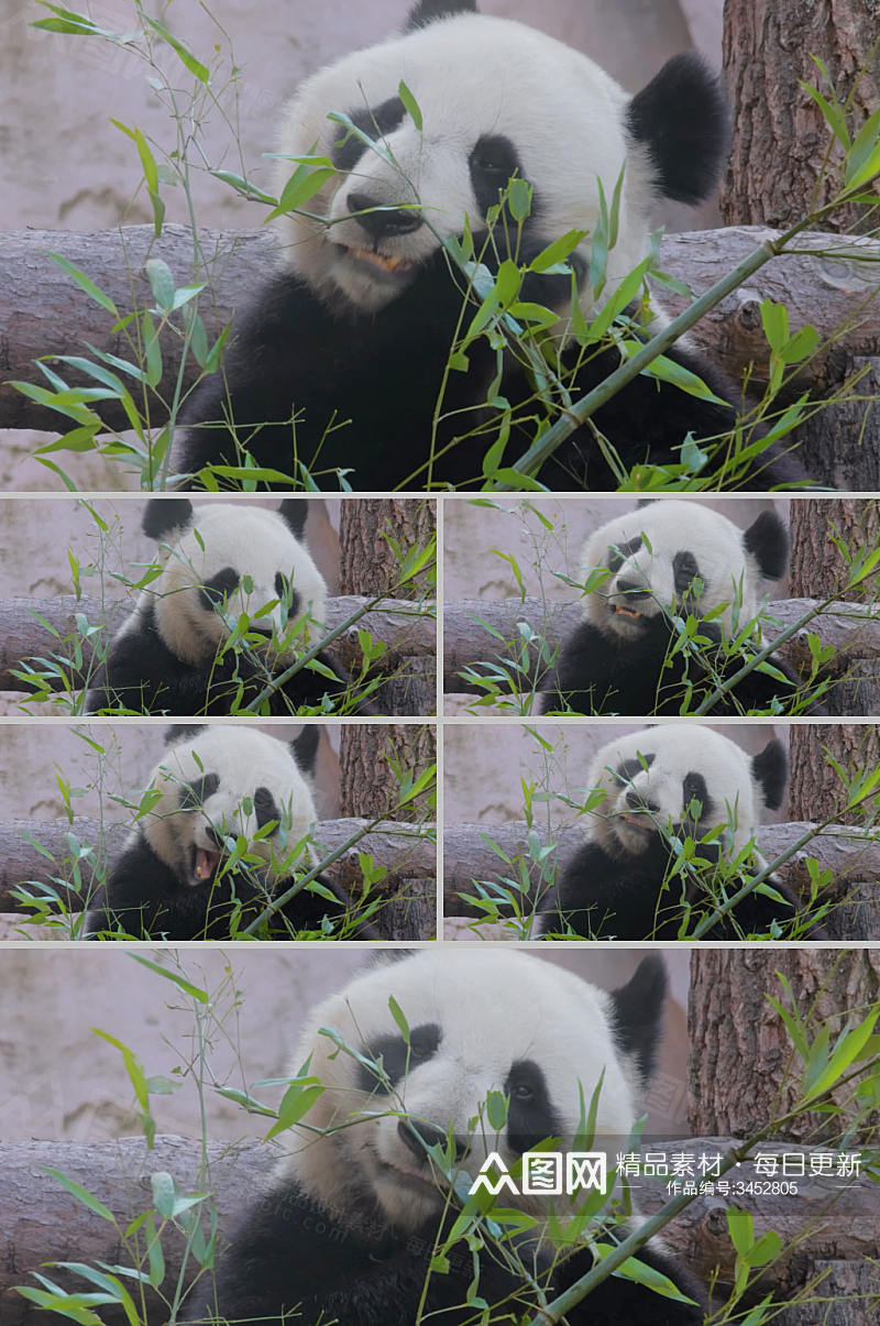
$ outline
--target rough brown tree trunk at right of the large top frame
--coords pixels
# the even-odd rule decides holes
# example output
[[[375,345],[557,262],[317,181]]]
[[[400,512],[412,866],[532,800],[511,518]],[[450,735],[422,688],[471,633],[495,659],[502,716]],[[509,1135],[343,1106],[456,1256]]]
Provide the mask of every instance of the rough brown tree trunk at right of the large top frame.
[[[842,149],[800,82],[831,99],[812,58],[819,57],[839,101],[851,98],[850,119],[857,129],[880,105],[877,44],[876,7],[859,0],[799,5],[726,0],[724,72],[736,114],[720,203],[729,225],[785,228],[834,198],[843,182]],[[876,183],[872,188],[877,192]],[[840,208],[823,225],[869,229],[876,208]],[[836,284],[834,263],[820,261],[815,277],[819,290]],[[876,278],[873,284],[876,289]],[[856,317],[860,293],[852,289]],[[793,320],[791,330],[799,325]],[[856,374],[864,374],[857,385]],[[880,359],[843,350],[831,355],[818,394],[839,389],[861,399],[824,406],[791,440],[807,472],[822,483],[873,492],[880,487]]]

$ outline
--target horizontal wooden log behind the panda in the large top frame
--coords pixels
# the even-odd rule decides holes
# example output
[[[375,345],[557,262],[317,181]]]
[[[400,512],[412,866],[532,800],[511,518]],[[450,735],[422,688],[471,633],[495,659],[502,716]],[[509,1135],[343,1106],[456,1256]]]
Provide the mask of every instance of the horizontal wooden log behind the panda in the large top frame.
[[[702,293],[730,272],[767,237],[778,232],[762,225],[694,231],[667,235],[660,245],[661,267]],[[64,416],[40,406],[13,387],[8,379],[44,383],[33,361],[40,355],[81,354],[85,342],[121,358],[133,350],[125,332],[111,333],[114,317],[85,294],[48,255],[61,253],[80,267],[113,300],[119,313],[147,308],[152,302],[143,264],[148,257],[163,259],[178,285],[207,281],[208,297],[199,305],[212,342],[229,322],[236,308],[249,300],[272,272],[274,236],[262,231],[200,229],[197,239],[203,260],[193,263],[193,243],[184,225],[163,227],[156,240],[151,225],[123,227],[94,233],[58,231],[13,231],[4,236],[0,253],[0,427],[66,430]],[[804,365],[804,381],[820,381],[828,355],[873,355],[880,353],[880,304],[876,268],[859,256],[876,257],[876,241],[868,237],[822,235],[798,236],[798,252],[766,264],[749,285],[724,300],[692,335],[729,374],[738,377],[754,362],[755,379],[767,361],[761,326],[759,304],[765,298],[789,309],[791,330],[810,324],[823,341],[835,334],[836,345]],[[672,313],[688,302],[665,288],[660,294]],[[150,402],[150,422],[167,419],[167,402],[174,394],[180,345],[175,335],[162,339],[164,373]],[[184,385],[195,379],[196,366],[188,363]],[[66,374],[62,374],[66,377]],[[70,382],[83,379],[74,374]],[[113,428],[125,428],[123,411],[113,400],[101,402],[101,418]]]

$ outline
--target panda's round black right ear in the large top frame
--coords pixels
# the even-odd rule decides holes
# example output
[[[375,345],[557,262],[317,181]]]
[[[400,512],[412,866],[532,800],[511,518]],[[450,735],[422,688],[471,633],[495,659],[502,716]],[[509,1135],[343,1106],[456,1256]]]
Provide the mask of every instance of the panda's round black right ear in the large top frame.
[[[700,203],[728,150],[728,98],[692,50],[668,60],[627,107],[627,127],[648,149],[664,198]]]

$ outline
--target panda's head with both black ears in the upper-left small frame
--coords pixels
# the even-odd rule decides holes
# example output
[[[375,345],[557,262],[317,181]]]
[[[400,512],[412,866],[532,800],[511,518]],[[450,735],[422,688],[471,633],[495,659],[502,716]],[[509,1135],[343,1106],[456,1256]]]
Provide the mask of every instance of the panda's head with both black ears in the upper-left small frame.
[[[326,583],[303,542],[307,503],[277,509],[239,503],[195,507],[184,497],[154,497],[142,528],[160,542],[162,574],[143,591],[156,630],[175,658],[211,659],[240,618],[249,643],[278,663],[309,644],[307,626],[323,622]]]

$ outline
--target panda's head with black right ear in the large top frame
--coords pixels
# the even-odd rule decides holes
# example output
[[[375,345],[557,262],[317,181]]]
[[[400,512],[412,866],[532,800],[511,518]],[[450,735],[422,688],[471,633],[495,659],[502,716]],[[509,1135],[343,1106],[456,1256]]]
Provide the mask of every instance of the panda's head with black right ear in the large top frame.
[[[329,114],[347,115],[354,131]],[[630,97],[533,28],[478,15],[473,0],[423,0],[402,36],[321,70],[290,102],[280,154],[329,158],[335,174],[309,215],[282,217],[284,261],[323,297],[375,310],[467,223],[481,231],[512,176],[533,188],[523,237],[537,252],[571,229],[594,232],[600,186],[610,206],[623,172],[612,289],[647,252],[656,200],[709,192],[725,125],[716,80],[694,56]],[[280,167],[278,191],[294,164]],[[578,252],[586,273],[588,237]],[[580,293],[586,308],[591,293]]]

